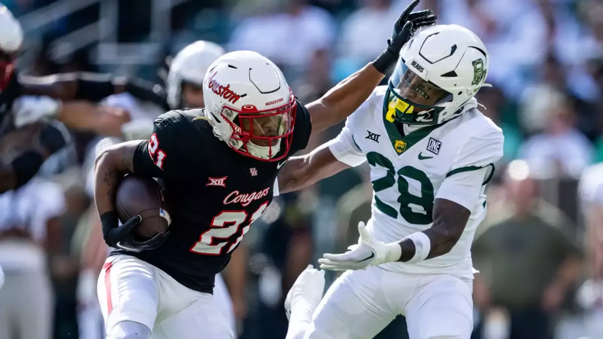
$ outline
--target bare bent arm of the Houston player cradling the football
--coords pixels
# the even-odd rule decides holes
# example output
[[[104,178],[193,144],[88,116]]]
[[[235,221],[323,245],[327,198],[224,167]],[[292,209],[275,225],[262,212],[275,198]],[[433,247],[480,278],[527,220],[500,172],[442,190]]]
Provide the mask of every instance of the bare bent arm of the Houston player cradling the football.
[[[99,215],[115,211],[115,192],[120,180],[134,172],[134,151],[140,141],[122,142],[103,150],[95,161],[94,200]]]

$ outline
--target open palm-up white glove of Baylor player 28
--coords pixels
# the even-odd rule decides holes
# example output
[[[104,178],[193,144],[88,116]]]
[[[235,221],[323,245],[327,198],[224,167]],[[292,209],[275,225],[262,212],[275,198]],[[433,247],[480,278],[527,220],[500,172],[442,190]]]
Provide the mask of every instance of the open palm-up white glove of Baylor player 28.
[[[397,242],[385,244],[373,239],[362,221],[358,223],[358,233],[360,239],[357,245],[348,247],[346,253],[325,253],[322,259],[318,259],[320,268],[331,271],[364,270],[400,259],[402,249]]]

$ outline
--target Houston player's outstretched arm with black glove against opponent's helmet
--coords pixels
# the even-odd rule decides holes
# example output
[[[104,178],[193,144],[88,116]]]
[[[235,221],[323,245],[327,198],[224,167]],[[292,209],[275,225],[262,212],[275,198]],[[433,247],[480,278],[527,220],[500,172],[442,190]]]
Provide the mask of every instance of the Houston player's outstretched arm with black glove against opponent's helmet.
[[[312,119],[312,131],[320,132],[355,112],[385,74],[396,65],[400,49],[408,42],[413,31],[435,25],[436,17],[431,10],[412,12],[418,2],[412,1],[394,22],[388,46],[377,59],[338,83],[320,99],[306,105]]]

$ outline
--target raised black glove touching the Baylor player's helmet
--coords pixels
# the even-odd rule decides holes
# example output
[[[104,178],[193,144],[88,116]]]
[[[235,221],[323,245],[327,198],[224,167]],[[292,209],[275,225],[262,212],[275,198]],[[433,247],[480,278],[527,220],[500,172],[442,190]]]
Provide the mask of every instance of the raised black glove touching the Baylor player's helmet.
[[[415,30],[421,27],[435,25],[437,17],[431,10],[411,12],[419,0],[414,0],[400,14],[394,24],[391,39],[387,40],[387,48],[373,62],[373,67],[381,74],[387,74],[396,65],[402,46],[412,36]]]

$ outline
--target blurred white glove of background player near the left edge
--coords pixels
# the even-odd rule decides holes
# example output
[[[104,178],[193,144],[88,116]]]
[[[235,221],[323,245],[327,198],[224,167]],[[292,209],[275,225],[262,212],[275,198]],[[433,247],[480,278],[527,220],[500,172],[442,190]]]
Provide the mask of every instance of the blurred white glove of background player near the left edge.
[[[14,125],[19,128],[36,121],[52,119],[62,107],[63,104],[58,99],[24,95],[14,100]]]

